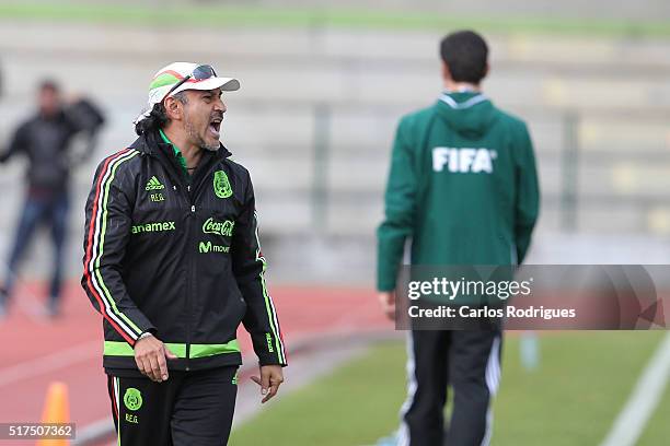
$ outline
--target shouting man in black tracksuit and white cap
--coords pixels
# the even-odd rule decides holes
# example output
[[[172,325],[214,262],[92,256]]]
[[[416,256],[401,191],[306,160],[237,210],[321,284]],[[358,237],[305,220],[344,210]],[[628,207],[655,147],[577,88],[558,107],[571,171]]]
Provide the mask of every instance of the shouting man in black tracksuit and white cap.
[[[251,178],[219,142],[221,92],[238,89],[210,66],[169,64],[150,85],[139,139],[95,173],[82,285],[103,315],[122,445],[227,443],[241,321],[263,402],[284,380]]]

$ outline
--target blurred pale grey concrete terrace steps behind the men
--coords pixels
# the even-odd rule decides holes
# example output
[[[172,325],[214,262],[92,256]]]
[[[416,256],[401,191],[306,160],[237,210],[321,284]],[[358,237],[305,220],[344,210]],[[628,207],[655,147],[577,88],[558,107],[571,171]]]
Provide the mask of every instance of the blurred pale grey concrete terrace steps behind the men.
[[[105,107],[100,160],[134,140],[131,121],[158,68],[172,60],[211,62],[242,82],[240,92],[226,95],[223,141],[252,172],[269,238],[371,240],[397,119],[440,92],[439,37],[0,22],[0,141],[30,113],[37,82],[55,77]],[[670,40],[489,38],[487,94],[527,119],[535,142],[539,233],[564,228],[564,151],[573,134],[579,149],[576,231],[670,234]],[[74,177],[73,240],[94,167],[92,161]],[[3,234],[13,231],[22,199],[20,171],[16,163],[0,171],[8,191],[0,195]]]

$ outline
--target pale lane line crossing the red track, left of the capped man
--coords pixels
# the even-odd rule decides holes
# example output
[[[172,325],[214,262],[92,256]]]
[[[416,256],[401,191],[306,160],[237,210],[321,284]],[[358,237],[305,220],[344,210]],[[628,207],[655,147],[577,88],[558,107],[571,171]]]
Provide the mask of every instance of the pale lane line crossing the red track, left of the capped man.
[[[102,354],[101,342],[86,342],[0,369],[0,387],[45,375]]]

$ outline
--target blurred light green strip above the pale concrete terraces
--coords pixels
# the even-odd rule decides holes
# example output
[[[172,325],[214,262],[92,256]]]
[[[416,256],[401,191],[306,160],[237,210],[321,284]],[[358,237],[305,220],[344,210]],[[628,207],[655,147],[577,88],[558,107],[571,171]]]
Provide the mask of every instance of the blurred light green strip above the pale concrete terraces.
[[[86,2],[9,1],[0,4],[0,19],[177,25],[209,27],[346,27],[385,30],[450,30],[469,26],[485,33],[578,34],[610,37],[668,37],[667,21],[574,19],[557,16],[454,16],[428,12],[389,12],[383,9],[262,8],[258,5],[188,5],[155,8]]]

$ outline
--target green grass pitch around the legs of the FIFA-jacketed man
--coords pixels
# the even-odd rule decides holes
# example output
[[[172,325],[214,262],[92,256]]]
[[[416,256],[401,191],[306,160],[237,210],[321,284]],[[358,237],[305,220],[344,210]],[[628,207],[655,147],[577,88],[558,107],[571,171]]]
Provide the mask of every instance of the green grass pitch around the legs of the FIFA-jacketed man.
[[[552,332],[541,336],[541,366],[520,365],[518,336],[504,347],[494,445],[593,446],[608,433],[665,332]],[[405,398],[400,342],[282,396],[233,432],[235,445],[370,445],[397,427]],[[666,444],[670,389],[639,445]]]

